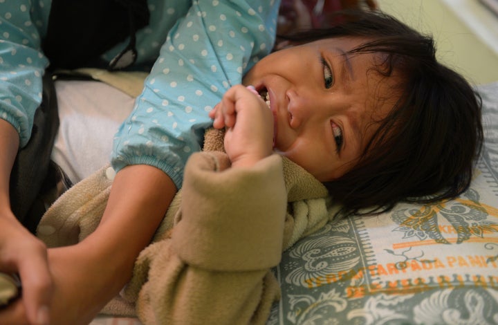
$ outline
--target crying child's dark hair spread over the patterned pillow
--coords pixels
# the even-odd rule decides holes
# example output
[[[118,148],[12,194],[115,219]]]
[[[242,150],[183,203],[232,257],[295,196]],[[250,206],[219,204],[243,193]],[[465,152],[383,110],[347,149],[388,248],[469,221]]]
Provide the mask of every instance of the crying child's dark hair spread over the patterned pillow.
[[[459,196],[470,185],[483,140],[479,95],[437,62],[432,37],[381,12],[348,12],[347,17],[337,26],[286,38],[369,40],[350,54],[378,53],[382,63],[375,70],[385,77],[396,74],[393,93],[400,98],[353,169],[325,183],[331,196],[356,214],[365,208],[385,212],[400,201],[433,203]]]

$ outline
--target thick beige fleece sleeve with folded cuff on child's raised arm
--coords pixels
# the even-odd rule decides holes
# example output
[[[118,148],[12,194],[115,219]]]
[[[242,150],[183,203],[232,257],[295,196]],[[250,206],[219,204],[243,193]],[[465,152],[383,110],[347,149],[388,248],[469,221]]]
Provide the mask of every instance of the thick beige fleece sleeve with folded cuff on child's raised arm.
[[[138,315],[145,324],[264,324],[279,286],[286,190],[282,158],[219,171],[212,154],[187,163],[171,237],[151,245]]]

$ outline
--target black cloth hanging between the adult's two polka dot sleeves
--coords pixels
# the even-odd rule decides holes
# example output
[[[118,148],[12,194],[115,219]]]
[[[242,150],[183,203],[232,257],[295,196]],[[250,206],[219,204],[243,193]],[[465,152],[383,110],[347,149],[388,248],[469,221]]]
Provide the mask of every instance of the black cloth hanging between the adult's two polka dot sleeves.
[[[135,33],[147,24],[147,0],[52,0],[42,48],[52,70],[102,68],[107,66],[100,60],[102,53],[129,36],[129,46],[113,60],[112,66],[107,66],[122,68],[127,65],[116,60],[124,57],[128,65],[133,64]]]

